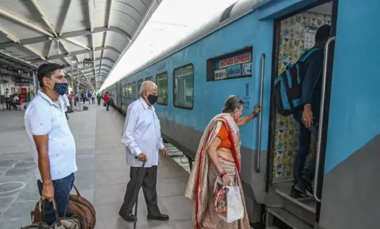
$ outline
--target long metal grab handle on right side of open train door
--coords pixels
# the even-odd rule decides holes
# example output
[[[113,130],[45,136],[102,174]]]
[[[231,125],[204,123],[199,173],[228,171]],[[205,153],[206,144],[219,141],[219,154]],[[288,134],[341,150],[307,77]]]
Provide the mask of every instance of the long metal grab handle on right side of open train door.
[[[320,166],[320,156],[321,156],[321,146],[322,146],[322,128],[323,128],[323,118],[324,118],[324,100],[326,97],[326,77],[327,77],[327,60],[328,60],[328,48],[331,41],[335,40],[335,37],[331,37],[327,40],[324,46],[324,57],[323,57],[323,75],[322,75],[322,93],[321,93],[321,111],[320,120],[318,126],[318,140],[317,140],[317,151],[315,153],[315,174],[314,174],[314,198],[321,203],[321,199],[317,196],[318,189],[318,178],[319,178],[319,166]]]

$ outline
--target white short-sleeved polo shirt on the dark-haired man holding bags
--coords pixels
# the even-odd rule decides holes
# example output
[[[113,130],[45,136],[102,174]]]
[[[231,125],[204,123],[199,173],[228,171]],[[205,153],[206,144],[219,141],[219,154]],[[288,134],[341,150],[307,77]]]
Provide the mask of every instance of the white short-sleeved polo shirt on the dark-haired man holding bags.
[[[39,180],[41,175],[38,170],[38,152],[33,135],[49,134],[48,153],[52,180],[64,178],[77,171],[75,140],[65,113],[42,91],[38,91],[37,96],[29,103],[24,115],[24,124],[32,144],[33,158],[37,166],[36,176]]]

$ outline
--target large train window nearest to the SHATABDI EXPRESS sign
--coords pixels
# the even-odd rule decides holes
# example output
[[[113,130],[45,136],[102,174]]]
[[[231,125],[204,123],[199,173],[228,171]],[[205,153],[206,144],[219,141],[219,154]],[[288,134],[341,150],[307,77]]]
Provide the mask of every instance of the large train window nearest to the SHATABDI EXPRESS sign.
[[[175,107],[192,109],[194,91],[193,65],[188,64],[173,71],[173,103]]]

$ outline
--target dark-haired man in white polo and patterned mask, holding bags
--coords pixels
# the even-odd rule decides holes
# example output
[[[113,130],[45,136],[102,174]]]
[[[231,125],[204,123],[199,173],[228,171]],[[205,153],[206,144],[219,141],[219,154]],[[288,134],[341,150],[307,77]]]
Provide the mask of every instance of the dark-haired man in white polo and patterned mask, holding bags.
[[[76,145],[58,97],[67,92],[62,66],[42,64],[38,68],[42,91],[29,103],[24,123],[37,165],[38,191],[45,201],[47,224],[55,221],[52,201],[57,203],[59,217],[65,216],[76,168]]]

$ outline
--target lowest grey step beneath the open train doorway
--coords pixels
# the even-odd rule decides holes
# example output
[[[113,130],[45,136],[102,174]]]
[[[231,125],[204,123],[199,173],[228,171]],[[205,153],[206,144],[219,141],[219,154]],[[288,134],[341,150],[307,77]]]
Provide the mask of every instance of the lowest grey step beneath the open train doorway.
[[[266,229],[278,229],[274,226],[274,218],[282,221],[292,229],[314,229],[311,225],[282,208],[266,209]]]

